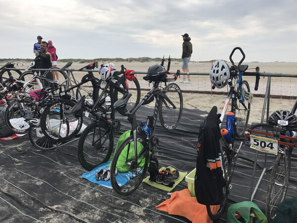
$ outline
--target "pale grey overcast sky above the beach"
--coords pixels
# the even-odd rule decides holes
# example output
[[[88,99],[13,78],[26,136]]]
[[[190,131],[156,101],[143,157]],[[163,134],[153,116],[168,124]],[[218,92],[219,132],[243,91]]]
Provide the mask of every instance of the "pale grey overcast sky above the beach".
[[[0,0],[0,58],[34,58],[37,36],[59,58],[297,61],[296,0]],[[236,55],[237,56],[237,55]],[[237,61],[237,59],[235,59]],[[238,59],[239,60],[239,59]]]

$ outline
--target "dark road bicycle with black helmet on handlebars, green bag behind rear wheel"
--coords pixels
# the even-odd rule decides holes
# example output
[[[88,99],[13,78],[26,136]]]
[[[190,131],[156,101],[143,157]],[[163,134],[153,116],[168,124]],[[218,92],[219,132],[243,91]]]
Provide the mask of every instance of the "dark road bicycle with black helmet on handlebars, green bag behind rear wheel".
[[[121,100],[114,104],[118,110],[122,109],[128,116],[128,121],[131,123],[132,129],[130,136],[120,143],[110,166],[110,182],[112,188],[121,195],[129,195],[135,191],[148,170],[149,155],[153,154],[158,147],[158,137],[155,136],[155,125],[157,115],[162,127],[165,130],[172,131],[175,129],[181,119],[183,111],[183,96],[179,86],[173,82],[177,79],[180,71],[177,70],[174,78],[167,78],[169,73],[170,60],[168,68],[165,70],[162,60],[161,65],[150,66],[148,75],[145,80],[153,82],[152,88],[148,94],[142,99],[133,111],[126,109],[127,100],[130,95],[125,95]],[[155,69],[156,68],[156,69]],[[150,72],[152,70],[153,72]],[[164,82],[165,88],[161,87]],[[155,107],[153,116],[148,116],[146,133],[137,125],[136,111],[145,104],[148,104],[155,99]],[[121,182],[122,174],[130,173],[129,181],[124,185]]]

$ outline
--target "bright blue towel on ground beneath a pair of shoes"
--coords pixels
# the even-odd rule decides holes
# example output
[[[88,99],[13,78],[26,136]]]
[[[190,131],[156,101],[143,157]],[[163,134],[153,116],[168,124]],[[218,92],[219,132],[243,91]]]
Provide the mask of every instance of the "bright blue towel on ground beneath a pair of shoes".
[[[109,167],[111,161],[108,161],[107,163],[101,164],[95,169],[93,169],[91,172],[86,172],[82,175],[83,178],[86,178],[87,180],[100,184],[104,187],[112,188],[110,184],[110,180],[104,181],[104,180],[97,180],[96,179],[96,173],[99,172],[100,169],[107,169]],[[128,171],[128,172],[118,172],[116,174],[116,180],[120,186],[125,185],[131,178],[135,176],[135,172]]]

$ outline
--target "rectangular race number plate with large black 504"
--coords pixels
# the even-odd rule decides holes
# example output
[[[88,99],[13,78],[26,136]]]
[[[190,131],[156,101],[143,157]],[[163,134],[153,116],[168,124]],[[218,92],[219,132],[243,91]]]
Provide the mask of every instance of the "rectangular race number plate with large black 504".
[[[277,140],[250,135],[250,148],[264,152],[277,154]]]

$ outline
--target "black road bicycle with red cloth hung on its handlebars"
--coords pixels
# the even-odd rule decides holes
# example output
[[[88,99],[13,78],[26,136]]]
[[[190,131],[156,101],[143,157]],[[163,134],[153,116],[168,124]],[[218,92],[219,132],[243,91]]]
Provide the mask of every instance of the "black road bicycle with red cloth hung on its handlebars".
[[[125,95],[130,92],[130,90],[128,91],[124,88],[122,84],[116,82],[115,78],[121,73],[124,74],[123,76],[127,76],[127,73],[131,75],[131,72],[131,70],[126,70],[122,65],[121,71],[116,71],[111,79],[106,80],[105,83],[102,84],[104,88],[93,108],[83,103],[84,99],[82,98],[77,104],[77,108],[73,109],[73,112],[76,113],[77,116],[83,116],[82,111],[85,111],[93,114],[96,118],[95,121],[88,125],[83,131],[78,143],[78,159],[82,167],[89,171],[108,161],[111,156],[114,134],[120,130],[120,121],[115,119],[115,112],[117,110],[114,109],[113,104],[120,95]],[[135,80],[137,79],[135,78]],[[136,86],[139,86],[138,81],[135,83]],[[136,101],[132,99],[132,97],[127,101],[129,111],[132,111],[140,101],[140,87],[136,88],[133,94],[135,94],[135,92],[136,95],[134,98],[136,98]],[[105,102],[106,96],[104,95],[106,93],[111,99],[109,106],[106,106],[107,102]],[[114,99],[112,100],[112,98]],[[100,109],[102,105],[105,105],[103,110]],[[98,112],[98,106],[100,112]]]

